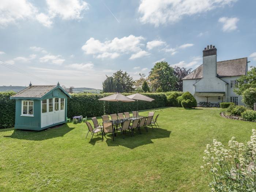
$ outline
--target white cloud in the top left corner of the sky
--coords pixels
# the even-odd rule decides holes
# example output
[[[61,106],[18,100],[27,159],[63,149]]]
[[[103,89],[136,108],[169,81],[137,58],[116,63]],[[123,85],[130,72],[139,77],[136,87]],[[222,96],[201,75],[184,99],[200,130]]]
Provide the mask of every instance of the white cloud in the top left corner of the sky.
[[[1,0],[0,26],[7,26],[22,19],[31,19],[36,12],[37,8],[27,0]]]

